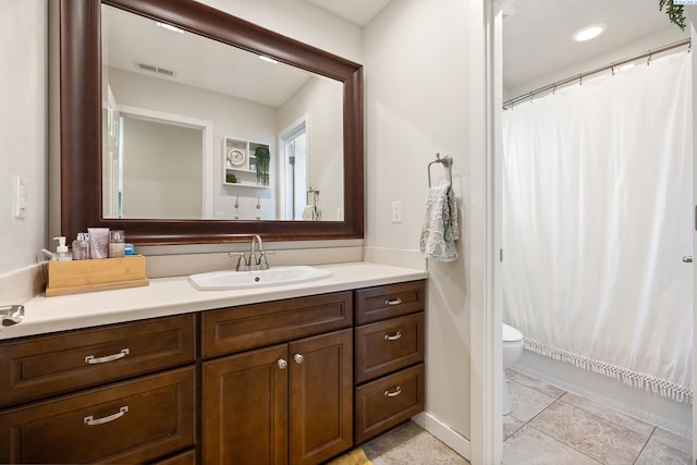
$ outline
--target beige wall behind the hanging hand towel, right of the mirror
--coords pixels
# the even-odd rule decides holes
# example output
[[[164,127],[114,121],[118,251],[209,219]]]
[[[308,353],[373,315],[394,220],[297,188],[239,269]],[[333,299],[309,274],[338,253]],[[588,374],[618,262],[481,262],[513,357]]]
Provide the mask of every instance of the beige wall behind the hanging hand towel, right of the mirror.
[[[426,409],[469,437],[468,7],[461,0],[391,2],[364,34],[367,120],[367,237],[375,249],[418,255],[436,152],[453,157],[464,236],[461,258],[429,261]],[[433,178],[442,175],[432,167]],[[402,222],[391,222],[393,200]],[[378,253],[379,255],[379,253]]]

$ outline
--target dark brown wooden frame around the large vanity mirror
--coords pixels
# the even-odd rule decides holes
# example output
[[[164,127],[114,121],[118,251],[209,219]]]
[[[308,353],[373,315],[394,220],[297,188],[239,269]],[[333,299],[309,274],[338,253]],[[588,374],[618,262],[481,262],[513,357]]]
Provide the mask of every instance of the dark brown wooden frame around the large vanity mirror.
[[[343,221],[117,219],[102,215],[101,3],[335,79],[343,85]],[[124,230],[138,245],[364,236],[363,66],[192,0],[61,0],[61,234]]]

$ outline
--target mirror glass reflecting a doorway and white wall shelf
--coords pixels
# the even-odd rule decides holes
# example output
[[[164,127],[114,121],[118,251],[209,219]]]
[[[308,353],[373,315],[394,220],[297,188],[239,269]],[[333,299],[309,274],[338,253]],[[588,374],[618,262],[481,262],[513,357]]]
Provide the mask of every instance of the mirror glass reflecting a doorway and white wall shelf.
[[[343,84],[103,5],[102,215],[343,221]]]

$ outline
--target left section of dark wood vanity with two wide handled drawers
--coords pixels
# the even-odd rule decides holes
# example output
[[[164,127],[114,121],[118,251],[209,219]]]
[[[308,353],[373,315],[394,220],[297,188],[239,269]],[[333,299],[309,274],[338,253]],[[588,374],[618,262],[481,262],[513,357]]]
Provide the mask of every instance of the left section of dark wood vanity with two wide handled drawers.
[[[155,463],[197,437],[196,316],[0,343],[0,463]]]

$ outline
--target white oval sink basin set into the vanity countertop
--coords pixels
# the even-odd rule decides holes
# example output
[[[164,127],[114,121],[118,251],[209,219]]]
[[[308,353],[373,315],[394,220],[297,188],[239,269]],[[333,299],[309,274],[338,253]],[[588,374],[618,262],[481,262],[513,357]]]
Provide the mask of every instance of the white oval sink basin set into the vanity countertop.
[[[314,267],[272,267],[258,271],[211,271],[192,274],[188,281],[200,291],[220,291],[229,289],[254,289],[272,285],[295,284],[329,278],[331,271]]]

